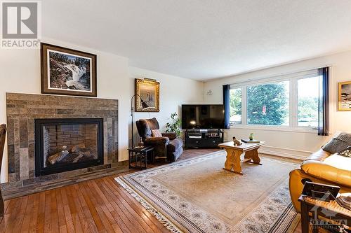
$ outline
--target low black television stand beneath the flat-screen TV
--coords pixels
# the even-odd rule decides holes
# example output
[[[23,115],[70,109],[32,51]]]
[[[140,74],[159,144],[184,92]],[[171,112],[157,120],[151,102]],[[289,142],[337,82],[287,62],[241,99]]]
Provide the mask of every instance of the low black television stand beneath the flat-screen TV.
[[[185,148],[216,148],[223,143],[221,129],[187,129]]]

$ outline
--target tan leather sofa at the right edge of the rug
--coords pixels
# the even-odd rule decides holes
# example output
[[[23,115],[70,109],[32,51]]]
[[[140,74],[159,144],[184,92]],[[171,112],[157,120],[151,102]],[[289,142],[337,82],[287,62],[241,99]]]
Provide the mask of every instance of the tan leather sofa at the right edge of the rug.
[[[351,158],[328,153],[322,149],[307,157],[300,168],[290,172],[291,202],[300,212],[300,197],[304,181],[340,186],[340,192],[351,192]]]

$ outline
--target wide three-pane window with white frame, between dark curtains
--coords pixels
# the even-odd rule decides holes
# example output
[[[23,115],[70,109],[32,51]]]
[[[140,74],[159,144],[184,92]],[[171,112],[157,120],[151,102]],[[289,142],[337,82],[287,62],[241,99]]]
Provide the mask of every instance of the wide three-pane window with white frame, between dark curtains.
[[[230,125],[315,128],[318,70],[230,85]]]

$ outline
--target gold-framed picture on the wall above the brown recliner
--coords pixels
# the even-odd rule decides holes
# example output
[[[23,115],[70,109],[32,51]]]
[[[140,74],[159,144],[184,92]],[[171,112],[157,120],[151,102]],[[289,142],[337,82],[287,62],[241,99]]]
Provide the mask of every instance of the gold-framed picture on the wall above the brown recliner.
[[[159,82],[135,78],[135,111],[159,112]]]

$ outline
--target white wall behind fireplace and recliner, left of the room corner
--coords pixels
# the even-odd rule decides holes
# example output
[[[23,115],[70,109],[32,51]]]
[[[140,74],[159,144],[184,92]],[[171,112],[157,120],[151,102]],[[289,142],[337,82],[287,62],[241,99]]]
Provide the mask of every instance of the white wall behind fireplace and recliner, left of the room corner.
[[[180,104],[201,102],[203,99],[201,82],[130,68],[126,57],[107,52],[82,48],[51,38],[44,38],[42,41],[98,55],[98,98],[119,100],[119,161],[128,159],[130,101],[134,93],[134,77],[155,78],[160,81],[161,111],[150,113],[150,116],[158,118],[162,126],[172,112],[178,111]],[[6,122],[6,92],[40,94],[40,80],[39,50],[0,51],[0,122]],[[148,116],[147,113],[135,113],[136,119]],[[4,183],[7,182],[8,172],[6,149],[1,168],[1,183]]]

